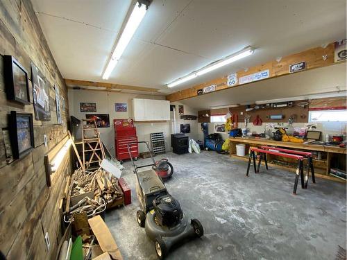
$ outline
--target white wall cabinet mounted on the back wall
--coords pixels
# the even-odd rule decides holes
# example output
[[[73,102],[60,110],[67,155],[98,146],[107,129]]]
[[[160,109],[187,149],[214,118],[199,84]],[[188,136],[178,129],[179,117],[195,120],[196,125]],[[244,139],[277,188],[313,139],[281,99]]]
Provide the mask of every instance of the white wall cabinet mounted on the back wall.
[[[134,121],[170,120],[170,101],[133,98]]]

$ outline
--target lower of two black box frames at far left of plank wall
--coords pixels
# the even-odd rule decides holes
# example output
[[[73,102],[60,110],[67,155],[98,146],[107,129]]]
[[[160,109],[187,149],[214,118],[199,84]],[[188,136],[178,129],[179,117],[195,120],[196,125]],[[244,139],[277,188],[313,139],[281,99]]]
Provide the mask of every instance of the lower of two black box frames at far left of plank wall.
[[[33,114],[11,111],[8,125],[13,159],[20,159],[34,148]]]

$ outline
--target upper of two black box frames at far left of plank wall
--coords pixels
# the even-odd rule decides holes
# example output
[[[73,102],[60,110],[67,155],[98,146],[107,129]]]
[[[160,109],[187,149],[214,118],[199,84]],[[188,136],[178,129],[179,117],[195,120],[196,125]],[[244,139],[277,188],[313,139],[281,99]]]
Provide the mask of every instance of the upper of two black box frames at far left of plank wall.
[[[7,99],[22,103],[23,105],[29,105],[28,71],[24,69],[22,64],[11,55],[3,55],[3,75],[5,78]],[[22,78],[22,83],[18,81],[19,78]]]

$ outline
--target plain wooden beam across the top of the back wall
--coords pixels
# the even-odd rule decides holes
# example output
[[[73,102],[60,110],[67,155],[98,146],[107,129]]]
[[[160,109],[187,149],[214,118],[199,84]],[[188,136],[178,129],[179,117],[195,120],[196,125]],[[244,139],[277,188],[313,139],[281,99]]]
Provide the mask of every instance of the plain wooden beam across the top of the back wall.
[[[101,83],[96,81],[87,81],[87,80],[73,80],[65,78],[65,84],[68,87],[105,87],[106,89],[126,89],[126,90],[136,90],[141,92],[158,92],[160,89],[154,89],[151,87],[137,87],[129,85],[121,85],[114,83]],[[101,90],[101,89],[100,89]]]

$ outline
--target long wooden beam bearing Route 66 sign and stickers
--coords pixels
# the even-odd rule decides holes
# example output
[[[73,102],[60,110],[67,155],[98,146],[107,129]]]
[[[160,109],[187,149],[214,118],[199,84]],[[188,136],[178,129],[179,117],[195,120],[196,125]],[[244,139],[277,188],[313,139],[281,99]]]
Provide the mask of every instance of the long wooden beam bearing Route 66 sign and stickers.
[[[277,62],[276,60],[272,60],[270,62],[266,62],[264,64],[257,65],[255,67],[248,68],[247,71],[240,70],[237,72],[237,78],[251,75],[255,72],[264,71],[265,69],[269,69],[270,71],[270,77],[274,78],[278,76],[284,76],[289,74],[289,65],[295,64],[297,62],[306,62],[306,69],[315,69],[315,68],[321,68],[326,67],[334,64],[334,51],[335,46],[334,42],[328,44],[325,48],[323,47],[316,47],[313,49],[309,49],[307,51],[302,51],[301,53],[296,53],[293,55],[288,55],[286,57],[283,57],[280,62]],[[323,55],[327,55],[327,58],[324,60]],[[230,71],[230,73],[233,71]],[[235,72],[235,71],[234,71]],[[300,72],[297,72],[300,73]],[[266,78],[264,80],[267,80],[269,78]],[[174,101],[180,101],[186,98],[192,98],[194,96],[198,96],[196,91],[198,89],[202,89],[203,87],[210,86],[210,85],[217,85],[216,91],[220,91],[222,89],[228,89],[228,85],[226,85],[227,76],[223,76],[221,78],[216,78],[214,80],[210,80],[206,83],[197,85],[195,87],[191,87],[189,89],[183,89],[179,92],[175,92],[173,94],[169,94],[167,96],[167,100],[170,102]],[[248,83],[246,83],[248,84]],[[245,85],[245,84],[244,84]],[[239,82],[232,86],[232,87],[241,87],[242,85],[239,84]],[[213,92],[210,92],[213,93]],[[210,93],[207,93],[205,95],[208,95]]]

